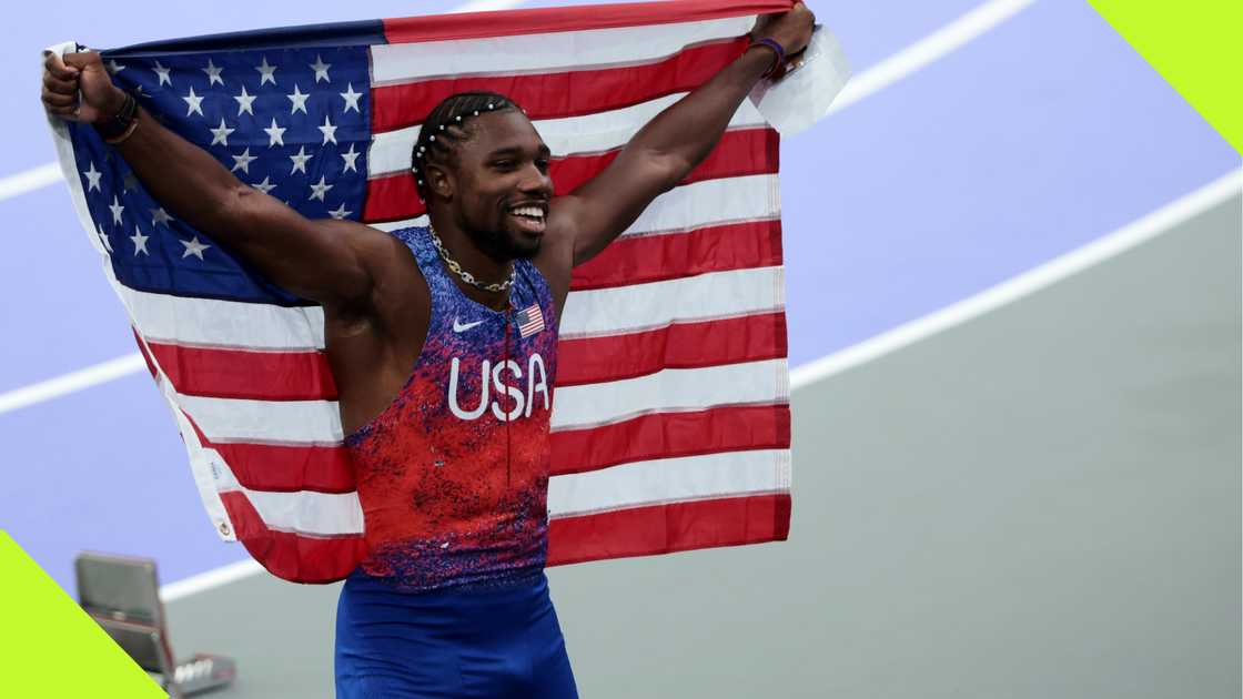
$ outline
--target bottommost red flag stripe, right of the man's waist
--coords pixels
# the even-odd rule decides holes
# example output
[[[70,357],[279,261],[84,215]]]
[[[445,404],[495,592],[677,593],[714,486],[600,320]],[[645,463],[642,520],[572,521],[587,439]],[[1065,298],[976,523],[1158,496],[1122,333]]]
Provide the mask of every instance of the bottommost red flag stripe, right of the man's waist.
[[[789,494],[773,494],[558,517],[548,522],[548,565],[784,541],[789,512]]]

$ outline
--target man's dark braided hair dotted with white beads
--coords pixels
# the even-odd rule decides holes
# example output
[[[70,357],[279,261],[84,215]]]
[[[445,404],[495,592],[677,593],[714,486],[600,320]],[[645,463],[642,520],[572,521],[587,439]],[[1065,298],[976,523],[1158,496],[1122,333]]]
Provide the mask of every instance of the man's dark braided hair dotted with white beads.
[[[457,148],[470,139],[470,119],[487,112],[507,112],[522,108],[508,97],[496,92],[459,92],[445,97],[419,129],[419,139],[410,152],[410,170],[419,192],[419,199],[429,201],[428,165],[456,165]]]

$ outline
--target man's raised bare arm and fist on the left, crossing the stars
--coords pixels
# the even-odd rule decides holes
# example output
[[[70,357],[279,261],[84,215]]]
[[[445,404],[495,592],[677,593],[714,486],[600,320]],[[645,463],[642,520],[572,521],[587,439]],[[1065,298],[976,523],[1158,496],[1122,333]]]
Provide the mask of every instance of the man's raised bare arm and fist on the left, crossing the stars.
[[[96,52],[63,60],[52,53],[44,67],[44,104],[53,114],[97,123],[126,102]],[[142,108],[135,118],[137,128],[116,148],[170,213],[300,296],[338,307],[369,302],[377,270],[394,259],[394,238],[354,221],[307,219]]]

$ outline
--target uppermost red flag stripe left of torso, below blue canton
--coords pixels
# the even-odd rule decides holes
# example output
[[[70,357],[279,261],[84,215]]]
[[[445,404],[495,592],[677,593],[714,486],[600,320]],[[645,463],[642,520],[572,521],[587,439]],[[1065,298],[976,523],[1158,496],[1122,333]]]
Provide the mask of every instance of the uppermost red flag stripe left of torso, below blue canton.
[[[148,342],[178,393],[247,400],[336,400],[323,352],[254,352]]]

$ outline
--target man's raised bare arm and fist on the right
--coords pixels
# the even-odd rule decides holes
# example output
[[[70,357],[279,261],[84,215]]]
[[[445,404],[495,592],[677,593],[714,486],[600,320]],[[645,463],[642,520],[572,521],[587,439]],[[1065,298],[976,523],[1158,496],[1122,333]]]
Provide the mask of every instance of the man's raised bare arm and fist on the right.
[[[752,37],[772,39],[787,56],[807,47],[815,17],[798,2],[762,17]],[[721,139],[730,118],[773,66],[776,51],[752,45],[738,60],[648,122],[604,170],[573,193],[553,199],[549,228],[573,241],[573,265],[600,252],[658,195],[677,185]],[[567,256],[568,250],[566,251]]]

